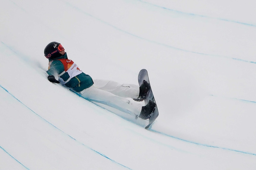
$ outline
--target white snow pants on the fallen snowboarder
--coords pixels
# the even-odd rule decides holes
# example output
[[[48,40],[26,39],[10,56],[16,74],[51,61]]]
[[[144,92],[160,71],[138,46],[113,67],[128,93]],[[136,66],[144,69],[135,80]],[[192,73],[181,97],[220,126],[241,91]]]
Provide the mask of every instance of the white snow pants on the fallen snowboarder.
[[[119,84],[109,80],[93,80],[94,84],[84,89],[80,94],[97,103],[102,103],[131,115],[140,115],[142,103],[134,101],[138,98],[139,86]]]

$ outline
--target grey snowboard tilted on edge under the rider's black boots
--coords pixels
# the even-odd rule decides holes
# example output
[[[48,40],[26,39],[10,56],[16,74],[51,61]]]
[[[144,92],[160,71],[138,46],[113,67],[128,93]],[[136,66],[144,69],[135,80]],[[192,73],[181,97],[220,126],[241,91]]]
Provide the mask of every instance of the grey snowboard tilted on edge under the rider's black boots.
[[[146,69],[142,69],[139,72],[139,75],[138,75],[139,86],[142,84],[143,80],[146,80],[148,82],[148,84],[150,85],[149,78],[148,78],[148,71]],[[148,93],[147,93],[144,101],[147,104],[150,100],[155,103],[156,107],[155,107],[154,111],[151,113],[150,118],[148,119],[148,125],[145,127],[145,129],[148,129],[149,127],[151,127],[151,125],[154,123],[154,121],[157,119],[157,117],[159,115],[158,109],[157,109],[157,103],[154,98],[154,95],[153,95],[153,92],[151,89],[151,85],[150,85],[150,90],[148,90]]]

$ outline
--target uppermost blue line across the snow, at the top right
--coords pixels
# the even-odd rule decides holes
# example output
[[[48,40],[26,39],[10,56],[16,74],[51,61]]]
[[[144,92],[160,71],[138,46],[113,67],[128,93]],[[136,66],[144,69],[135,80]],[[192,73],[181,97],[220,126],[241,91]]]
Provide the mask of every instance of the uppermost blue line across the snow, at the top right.
[[[226,21],[226,22],[233,22],[233,23],[237,23],[237,24],[242,24],[242,25],[256,27],[256,25],[254,25],[254,24],[248,24],[248,23],[245,23],[245,22],[239,22],[239,21],[228,20],[228,19],[223,19],[223,18],[208,17],[206,15],[194,14],[194,13],[189,13],[189,12],[182,12],[182,11],[178,11],[178,10],[162,7],[162,6],[159,6],[159,5],[151,4],[149,2],[145,2],[145,1],[142,1],[142,0],[137,0],[137,1],[143,2],[145,4],[152,5],[154,7],[162,8],[162,9],[165,9],[165,10],[168,10],[168,11],[180,13],[180,14],[186,14],[186,15],[191,15],[191,16],[196,16],[196,17],[204,17],[204,18],[217,19],[217,20],[222,20],[222,21]]]

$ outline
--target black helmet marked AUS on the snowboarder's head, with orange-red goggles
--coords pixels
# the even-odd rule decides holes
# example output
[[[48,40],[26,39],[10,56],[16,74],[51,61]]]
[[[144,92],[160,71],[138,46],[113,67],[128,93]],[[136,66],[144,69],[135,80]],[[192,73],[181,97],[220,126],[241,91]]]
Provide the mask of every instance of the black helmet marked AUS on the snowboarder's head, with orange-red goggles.
[[[56,57],[61,56],[59,51],[64,51],[65,49],[60,43],[57,43],[55,41],[49,43],[44,50],[45,57],[48,59],[54,59]]]

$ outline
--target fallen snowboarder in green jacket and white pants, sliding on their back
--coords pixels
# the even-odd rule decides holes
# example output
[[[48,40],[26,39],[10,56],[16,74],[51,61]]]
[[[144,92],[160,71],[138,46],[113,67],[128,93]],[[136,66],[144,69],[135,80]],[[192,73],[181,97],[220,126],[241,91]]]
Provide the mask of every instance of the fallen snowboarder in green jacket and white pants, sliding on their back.
[[[65,49],[58,42],[49,43],[44,49],[44,55],[49,59],[47,73],[50,82],[61,83],[89,101],[102,103],[128,114],[135,114],[136,118],[149,119],[154,110],[153,101],[143,106],[143,102],[132,100],[145,99],[150,87],[146,81],[139,87],[108,80],[93,80],[68,59]],[[55,77],[58,77],[58,80]]]

